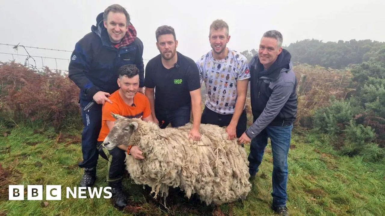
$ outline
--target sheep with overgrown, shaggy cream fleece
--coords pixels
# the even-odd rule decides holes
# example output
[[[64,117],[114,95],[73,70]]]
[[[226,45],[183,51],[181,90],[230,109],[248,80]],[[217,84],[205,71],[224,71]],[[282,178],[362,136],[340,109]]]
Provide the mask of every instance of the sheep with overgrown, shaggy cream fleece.
[[[152,122],[112,115],[115,125],[103,142],[112,150],[118,145],[137,145],[144,160],[126,153],[126,167],[136,184],[147,184],[154,198],[168,196],[179,187],[187,198],[197,193],[206,205],[245,199],[251,190],[247,154],[236,140],[228,140],[224,128],[201,124],[201,140],[188,138],[192,127],[160,129]]]

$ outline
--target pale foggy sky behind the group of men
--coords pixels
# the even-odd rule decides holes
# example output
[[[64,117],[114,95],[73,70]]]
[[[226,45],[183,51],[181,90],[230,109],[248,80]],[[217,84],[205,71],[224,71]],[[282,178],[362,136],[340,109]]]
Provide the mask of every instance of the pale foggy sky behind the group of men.
[[[2,31],[0,43],[25,46],[74,49],[75,43],[90,32],[96,16],[114,3],[121,4],[144,44],[143,58],[159,54],[155,30],[170,25],[179,41],[177,51],[197,60],[211,47],[209,25],[220,18],[229,25],[228,47],[242,52],[258,48],[267,30],[283,34],[283,45],[315,38],[318,40],[385,41],[383,0],[0,0]],[[178,3],[177,3],[178,2]],[[194,2],[194,3],[192,3]],[[69,59],[71,53],[27,49],[30,55]],[[0,45],[0,52],[26,54]],[[16,57],[16,56],[14,56]],[[12,59],[0,54],[0,61]],[[24,62],[25,57],[17,57]],[[37,59],[41,67],[42,59]],[[145,64],[147,61],[145,60]],[[43,59],[45,65],[56,67],[55,60]],[[68,70],[68,61],[57,60],[58,69]]]

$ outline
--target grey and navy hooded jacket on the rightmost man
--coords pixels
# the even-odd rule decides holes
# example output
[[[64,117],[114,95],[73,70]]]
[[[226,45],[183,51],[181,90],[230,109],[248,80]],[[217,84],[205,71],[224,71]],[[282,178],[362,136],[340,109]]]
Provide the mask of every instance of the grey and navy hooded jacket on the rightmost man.
[[[253,139],[266,126],[291,125],[296,119],[297,80],[290,53],[283,49],[268,70],[254,56],[249,63],[251,110],[254,123],[246,131]]]

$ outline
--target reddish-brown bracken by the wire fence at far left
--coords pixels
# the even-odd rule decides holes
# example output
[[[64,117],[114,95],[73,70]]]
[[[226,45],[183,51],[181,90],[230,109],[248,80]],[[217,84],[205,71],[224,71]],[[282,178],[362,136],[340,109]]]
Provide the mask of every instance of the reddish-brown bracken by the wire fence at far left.
[[[62,127],[79,110],[79,88],[61,71],[34,71],[18,63],[0,63],[0,113],[16,122],[43,121]]]

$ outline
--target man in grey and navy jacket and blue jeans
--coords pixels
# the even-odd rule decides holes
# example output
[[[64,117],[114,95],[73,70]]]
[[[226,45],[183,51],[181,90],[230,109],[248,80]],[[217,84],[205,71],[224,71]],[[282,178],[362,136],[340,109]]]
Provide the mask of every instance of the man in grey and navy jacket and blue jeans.
[[[258,55],[249,63],[251,110],[254,123],[239,138],[239,143],[251,141],[249,173],[258,172],[268,138],[273,151],[273,204],[280,215],[288,215],[286,185],[287,156],[291,130],[297,115],[296,76],[290,53],[282,49],[282,34],[265,32],[259,43]]]

